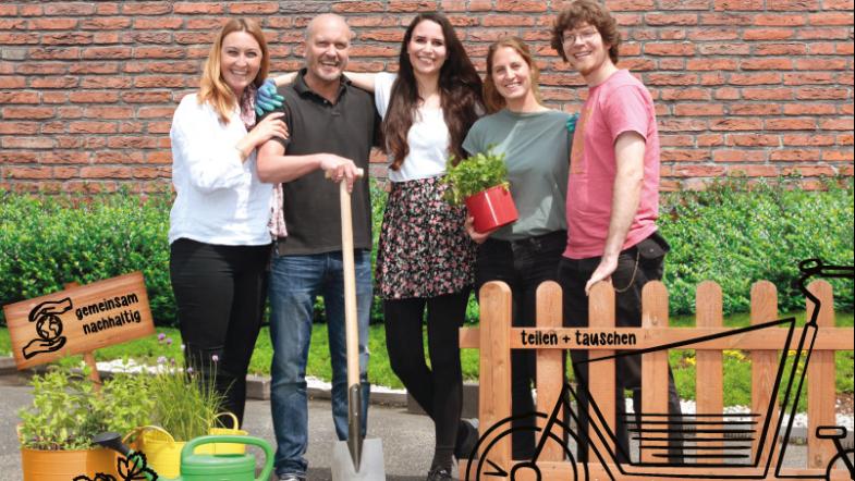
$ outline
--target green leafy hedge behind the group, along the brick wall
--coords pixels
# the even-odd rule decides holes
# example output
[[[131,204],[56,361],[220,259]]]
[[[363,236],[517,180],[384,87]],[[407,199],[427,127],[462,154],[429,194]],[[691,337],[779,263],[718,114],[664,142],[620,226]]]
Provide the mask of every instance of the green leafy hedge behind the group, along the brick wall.
[[[705,192],[662,196],[662,233],[672,251],[665,262],[671,311],[694,311],[695,285],[718,282],[726,312],[746,311],[750,284],[772,281],[781,311],[799,309],[793,289],[798,260],[820,257],[853,263],[853,181],[834,180],[822,192],[729,180]],[[386,198],[372,188],[375,242]],[[0,304],[143,271],[158,324],[175,324],[169,282],[167,232],[171,197],[122,195],[82,197],[0,192]],[[852,309],[848,281],[834,282],[839,308]],[[318,305],[320,311],[322,306]],[[375,299],[371,317],[381,320]],[[474,321],[477,308],[467,318]]]

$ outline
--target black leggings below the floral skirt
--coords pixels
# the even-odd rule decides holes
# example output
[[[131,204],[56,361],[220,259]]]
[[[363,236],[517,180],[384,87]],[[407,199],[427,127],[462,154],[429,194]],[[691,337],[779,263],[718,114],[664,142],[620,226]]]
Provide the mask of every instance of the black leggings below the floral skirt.
[[[383,300],[386,346],[395,375],[433,420],[437,448],[454,449],[463,409],[460,326],[469,288],[437,297]],[[430,367],[425,362],[423,319],[427,308]]]

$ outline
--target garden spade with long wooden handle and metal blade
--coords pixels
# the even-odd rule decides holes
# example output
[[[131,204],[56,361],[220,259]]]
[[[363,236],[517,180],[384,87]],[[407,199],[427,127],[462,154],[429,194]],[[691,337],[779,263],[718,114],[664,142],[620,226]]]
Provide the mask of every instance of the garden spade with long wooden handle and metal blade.
[[[362,175],[362,170],[359,174]],[[339,182],[341,198],[341,250],[344,263],[344,326],[347,346],[347,441],[332,449],[334,481],[382,481],[383,447],[380,440],[363,440],[362,386],[359,384],[359,330],[356,321],[356,269],[353,261],[353,218],[347,184]]]

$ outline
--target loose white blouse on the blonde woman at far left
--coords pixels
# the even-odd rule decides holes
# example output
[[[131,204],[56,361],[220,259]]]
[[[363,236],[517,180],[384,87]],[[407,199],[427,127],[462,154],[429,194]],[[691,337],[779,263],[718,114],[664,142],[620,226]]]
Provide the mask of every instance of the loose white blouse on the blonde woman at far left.
[[[225,246],[270,243],[273,186],[258,180],[255,150],[245,162],[235,148],[246,136],[237,108],[222,125],[196,94],[185,96],[172,118],[172,184],[169,243],[179,238]]]

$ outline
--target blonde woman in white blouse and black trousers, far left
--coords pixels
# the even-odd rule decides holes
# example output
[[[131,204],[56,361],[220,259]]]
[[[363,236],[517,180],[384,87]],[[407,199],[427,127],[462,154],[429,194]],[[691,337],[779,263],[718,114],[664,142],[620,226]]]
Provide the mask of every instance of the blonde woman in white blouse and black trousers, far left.
[[[172,119],[170,275],[184,355],[243,419],[246,371],[261,323],[272,185],[256,172],[256,147],[288,137],[281,114],[257,125],[255,91],[267,76],[257,23],[230,20],[205,64],[199,91]]]

